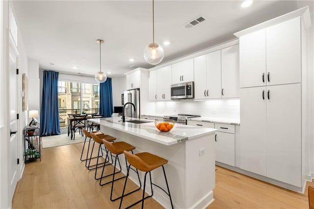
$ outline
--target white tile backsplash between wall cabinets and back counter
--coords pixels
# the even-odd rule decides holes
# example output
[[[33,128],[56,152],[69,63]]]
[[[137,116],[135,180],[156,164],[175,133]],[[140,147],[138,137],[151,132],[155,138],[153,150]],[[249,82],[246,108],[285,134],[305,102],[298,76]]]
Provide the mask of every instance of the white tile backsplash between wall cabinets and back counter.
[[[153,105],[152,105],[153,106]],[[156,114],[158,115],[176,115],[190,114],[203,117],[217,118],[239,118],[240,100],[239,99],[221,99],[207,101],[178,100],[156,102]]]

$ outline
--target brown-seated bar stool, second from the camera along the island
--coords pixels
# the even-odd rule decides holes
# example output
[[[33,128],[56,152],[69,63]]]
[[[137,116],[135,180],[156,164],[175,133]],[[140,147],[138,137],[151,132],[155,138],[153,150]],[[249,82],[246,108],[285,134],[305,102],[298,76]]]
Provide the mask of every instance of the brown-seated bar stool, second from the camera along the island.
[[[100,185],[100,186],[104,186],[104,185],[106,185],[106,184],[112,183],[112,184],[111,184],[110,200],[111,200],[111,201],[115,201],[115,200],[118,200],[118,199],[122,198],[122,196],[117,197],[117,198],[115,198],[115,199],[112,199],[113,183],[114,183],[115,181],[119,180],[119,179],[126,178],[126,176],[123,176],[123,177],[114,179],[114,175],[116,174],[116,173],[115,173],[116,163],[117,163],[117,161],[119,162],[119,157],[118,157],[118,156],[121,155],[121,154],[123,154],[123,152],[124,152],[124,153],[126,153],[126,152],[129,153],[129,152],[131,151],[131,152],[133,153],[133,149],[135,149],[135,147],[132,146],[131,144],[127,143],[127,142],[124,142],[124,141],[118,141],[118,142],[115,142],[115,143],[110,143],[110,142],[108,142],[108,141],[106,141],[106,140],[103,139],[103,142],[104,142],[104,144],[105,144],[106,149],[108,150],[105,159],[107,159],[108,152],[110,152],[110,153],[112,153],[112,154],[115,155],[115,162],[114,162],[113,173],[111,173],[111,174],[108,174],[108,175],[106,175],[106,176],[103,176],[103,175],[104,175],[104,171],[105,171],[105,166],[103,167],[102,177],[101,177],[101,180],[100,180],[100,182],[99,182],[99,185]],[[109,159],[109,158],[108,158],[108,159]],[[121,164],[120,164],[120,162],[119,162],[119,166],[120,166],[120,171],[121,171]],[[128,167],[127,159],[126,159],[126,166]],[[134,170],[134,169],[132,169],[132,170]],[[136,172],[137,177],[138,177],[139,187],[138,187],[137,189],[135,189],[135,190],[133,190],[133,191],[127,193],[127,194],[124,194],[124,196],[126,196],[126,195],[128,195],[128,194],[131,194],[131,193],[133,193],[133,192],[135,192],[135,191],[138,191],[138,190],[141,188],[141,186],[142,186],[142,185],[141,185],[141,180],[140,180],[140,178],[139,178],[138,170],[136,169],[136,170],[134,170],[134,171]],[[111,175],[112,175],[112,180],[109,181],[109,182],[106,182],[106,183],[102,184],[102,179],[105,178],[105,177],[107,177],[107,176],[111,176]],[[122,195],[123,195],[123,194],[122,194]]]

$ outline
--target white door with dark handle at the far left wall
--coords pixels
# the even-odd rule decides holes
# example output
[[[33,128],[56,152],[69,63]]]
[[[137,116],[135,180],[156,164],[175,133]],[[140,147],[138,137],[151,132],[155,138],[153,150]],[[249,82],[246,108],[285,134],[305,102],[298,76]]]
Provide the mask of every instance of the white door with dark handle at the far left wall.
[[[9,68],[10,68],[10,129],[12,132],[16,132],[18,130],[18,76],[16,73],[17,69],[17,55],[11,48],[9,47]],[[9,198],[12,200],[13,194],[15,191],[16,184],[18,182],[18,133],[11,134],[9,141],[9,151],[8,151],[8,160],[9,160],[9,171],[8,171],[8,179],[9,179]]]

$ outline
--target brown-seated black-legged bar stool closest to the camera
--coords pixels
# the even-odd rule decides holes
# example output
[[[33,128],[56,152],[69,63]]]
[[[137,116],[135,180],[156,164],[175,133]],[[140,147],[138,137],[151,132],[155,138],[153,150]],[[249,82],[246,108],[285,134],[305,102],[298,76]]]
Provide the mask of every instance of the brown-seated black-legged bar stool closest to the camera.
[[[159,156],[153,155],[153,154],[148,153],[148,152],[137,153],[137,154],[134,155],[134,154],[131,154],[130,152],[124,151],[124,155],[126,156],[126,158],[127,158],[128,162],[130,163],[130,165],[128,167],[127,178],[126,178],[126,181],[124,183],[123,192],[122,192],[122,198],[121,198],[121,201],[120,201],[119,209],[121,208],[122,200],[123,200],[123,197],[125,196],[124,195],[124,191],[125,191],[125,188],[126,188],[126,185],[127,185],[127,180],[128,180],[128,176],[129,176],[129,171],[130,171],[131,165],[133,167],[137,168],[138,170],[145,172],[144,188],[143,188],[142,199],[137,201],[137,202],[135,202],[135,203],[133,203],[131,206],[128,206],[127,208],[131,208],[132,206],[136,205],[137,203],[142,202],[142,209],[143,209],[144,208],[144,200],[146,198],[149,198],[149,197],[153,196],[153,185],[154,185],[154,186],[157,186],[158,188],[160,188],[161,190],[163,190],[169,196],[171,207],[173,209],[173,204],[172,204],[172,199],[171,199],[170,190],[169,190],[169,186],[168,186],[168,181],[167,181],[165,169],[163,167],[163,165],[167,164],[168,161],[166,159],[160,158]],[[156,169],[156,168],[158,168],[158,167],[160,167],[160,166],[162,167],[162,171],[163,171],[163,175],[165,177],[165,181],[166,181],[168,192],[166,192],[160,186],[152,183],[151,171]],[[146,186],[146,175],[147,175],[147,173],[149,173],[149,178],[150,178],[150,181],[151,181],[152,194],[147,196],[147,197],[144,197],[145,196],[145,186]]]

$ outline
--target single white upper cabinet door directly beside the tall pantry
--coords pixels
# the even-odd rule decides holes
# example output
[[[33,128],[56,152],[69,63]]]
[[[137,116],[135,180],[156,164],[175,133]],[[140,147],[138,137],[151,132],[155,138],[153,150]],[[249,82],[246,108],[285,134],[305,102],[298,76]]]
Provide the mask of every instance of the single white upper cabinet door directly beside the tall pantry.
[[[239,45],[221,49],[221,97],[239,97]]]

